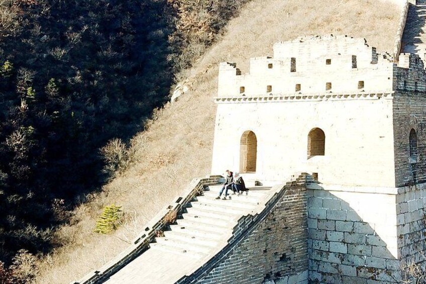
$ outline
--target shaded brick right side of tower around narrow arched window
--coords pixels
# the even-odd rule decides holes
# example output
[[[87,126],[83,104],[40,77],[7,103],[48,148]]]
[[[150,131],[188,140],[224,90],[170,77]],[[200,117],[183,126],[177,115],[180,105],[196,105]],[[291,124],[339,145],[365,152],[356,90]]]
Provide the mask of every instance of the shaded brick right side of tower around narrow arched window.
[[[424,92],[398,91],[393,99],[396,186],[426,181],[426,98]],[[409,134],[417,135],[417,159],[410,158]]]

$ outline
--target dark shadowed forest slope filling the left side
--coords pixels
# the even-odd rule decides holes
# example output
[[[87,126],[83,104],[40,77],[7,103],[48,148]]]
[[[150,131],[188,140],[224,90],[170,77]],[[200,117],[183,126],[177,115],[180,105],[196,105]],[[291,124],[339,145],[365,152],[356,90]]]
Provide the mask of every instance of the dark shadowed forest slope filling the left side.
[[[63,245],[114,170],[99,149],[143,129],[244,2],[0,0],[0,283],[28,280],[18,252]]]

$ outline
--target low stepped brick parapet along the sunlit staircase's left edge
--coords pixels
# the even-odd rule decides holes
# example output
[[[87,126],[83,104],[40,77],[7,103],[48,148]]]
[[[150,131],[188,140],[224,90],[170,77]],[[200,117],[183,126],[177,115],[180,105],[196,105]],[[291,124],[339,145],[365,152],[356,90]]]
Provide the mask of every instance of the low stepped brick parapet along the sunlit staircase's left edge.
[[[176,197],[172,204],[160,211],[157,216],[148,223],[144,232],[134,240],[131,246],[110,262],[103,265],[100,269],[93,270],[84,278],[79,281],[73,281],[70,284],[94,284],[101,283],[103,280],[108,279],[108,277],[149,249],[149,244],[153,242],[157,232],[163,231],[165,226],[168,225],[168,216],[182,213],[185,206],[190,203],[194,197],[202,194],[205,186],[219,183],[219,179],[222,177],[221,175],[210,175],[205,178],[193,179],[182,195]]]

